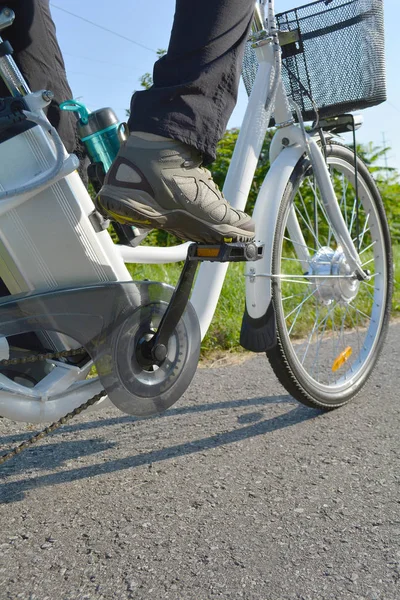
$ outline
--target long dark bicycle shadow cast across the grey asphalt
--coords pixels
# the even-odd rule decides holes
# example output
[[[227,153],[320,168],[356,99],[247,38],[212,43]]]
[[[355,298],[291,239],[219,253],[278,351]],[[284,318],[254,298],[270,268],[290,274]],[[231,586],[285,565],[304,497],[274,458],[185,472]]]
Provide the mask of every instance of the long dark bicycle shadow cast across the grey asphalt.
[[[249,407],[251,405],[255,405],[262,407],[267,406],[271,403],[282,402],[283,399],[285,399],[286,402],[293,402],[290,396],[275,396],[271,398],[264,397],[228,402],[218,402],[215,404],[185,406],[181,409],[170,409],[163,415],[157,415],[151,419],[147,419],[147,421],[173,416],[171,414],[173,412],[175,412],[175,415],[182,415],[193,412],[197,413],[209,410],[227,409],[238,406]],[[238,415],[238,423],[245,423],[245,425],[243,427],[234,428],[229,431],[224,431],[223,433],[215,433],[208,437],[186,441],[182,444],[176,444],[157,450],[152,450],[146,453],[135,454],[133,456],[114,459],[108,462],[101,462],[93,465],[77,467],[68,471],[63,469],[62,471],[58,471],[55,473],[49,473],[37,477],[24,478],[20,479],[19,481],[4,482],[0,484],[0,504],[21,501],[24,499],[25,492],[31,489],[36,489],[38,487],[54,486],[62,483],[65,484],[68,482],[86,479],[88,477],[104,476],[115,471],[133,469],[146,464],[149,465],[182,456],[190,456],[197,452],[204,452],[207,450],[218,448],[220,446],[234,444],[248,438],[254,438],[268,433],[272,433],[274,431],[284,429],[286,427],[292,427],[304,421],[314,419],[320,414],[323,414],[323,411],[307,408],[302,405],[297,405],[295,406],[295,408],[289,410],[284,414],[262,420],[259,420],[259,415],[262,415],[262,413]],[[256,419],[257,421],[254,422]],[[130,421],[134,421],[134,419],[132,417],[100,419],[99,421],[82,423],[80,425],[73,425],[69,428],[65,428],[64,431],[67,431],[67,429],[69,429],[70,431],[84,431],[92,428],[104,427],[105,425],[115,425]],[[248,424],[248,422],[250,423]],[[55,460],[57,461],[58,466],[61,466],[62,463],[64,463],[65,461],[69,461],[76,458],[78,456],[76,453],[78,447],[81,449],[79,456],[89,456],[91,454],[107,450],[108,448],[113,447],[113,445],[114,444],[110,442],[103,443],[99,440],[93,439],[85,439],[78,442],[76,440],[71,442],[62,440],[58,443],[47,444],[46,446],[41,446],[40,448],[38,448],[36,450],[35,459],[38,456],[40,456],[42,463],[40,466],[43,469],[49,468],[48,465],[45,464],[49,462],[51,463],[51,468],[54,468]],[[18,471],[26,470],[27,468],[31,469],[32,465],[27,465],[27,461],[29,461],[29,457],[24,457],[23,455],[17,456],[10,462],[9,468],[7,468],[8,472],[3,467],[3,472],[0,471],[0,475],[2,475],[3,477],[7,477],[15,475],[16,469]],[[33,466],[38,467],[39,465],[35,464]]]

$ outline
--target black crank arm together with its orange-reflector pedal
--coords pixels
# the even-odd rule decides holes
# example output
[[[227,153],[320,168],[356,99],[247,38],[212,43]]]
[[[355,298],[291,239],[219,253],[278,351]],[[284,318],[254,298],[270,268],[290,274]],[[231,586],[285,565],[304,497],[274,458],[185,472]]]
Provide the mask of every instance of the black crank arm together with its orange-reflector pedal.
[[[144,336],[140,344],[142,360],[147,364],[160,364],[167,356],[168,341],[182,317],[189,301],[199,262],[247,262],[260,260],[264,244],[235,242],[226,244],[196,244],[188,248],[187,258],[171,301],[165,311],[157,333],[149,339]],[[139,359],[140,360],[140,359]]]

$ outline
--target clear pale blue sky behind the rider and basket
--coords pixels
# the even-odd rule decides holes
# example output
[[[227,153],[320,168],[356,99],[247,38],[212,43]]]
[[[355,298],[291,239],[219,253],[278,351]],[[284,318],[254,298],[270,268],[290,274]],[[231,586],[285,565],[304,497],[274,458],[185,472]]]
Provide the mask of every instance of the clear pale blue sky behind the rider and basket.
[[[307,4],[304,0],[276,0],[283,12]],[[175,0],[54,0],[51,1],[58,41],[75,98],[95,110],[111,106],[121,120],[139,78],[151,72],[158,48],[167,48]],[[400,21],[399,0],[385,0],[387,102],[362,111],[361,143],[382,146],[385,140],[389,166],[400,171]],[[60,10],[63,9],[63,10]],[[78,15],[81,19],[78,19]],[[85,20],[82,20],[85,19]],[[89,21],[118,33],[99,29]],[[240,127],[246,110],[243,84],[228,127]],[[350,140],[349,140],[350,142]]]

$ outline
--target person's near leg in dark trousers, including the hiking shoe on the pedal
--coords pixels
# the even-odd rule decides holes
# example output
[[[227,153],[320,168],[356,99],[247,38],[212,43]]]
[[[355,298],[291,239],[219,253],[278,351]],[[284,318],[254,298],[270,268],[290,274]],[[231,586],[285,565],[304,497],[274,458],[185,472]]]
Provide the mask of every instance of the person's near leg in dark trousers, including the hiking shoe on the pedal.
[[[103,214],[200,242],[253,239],[253,221],[202,168],[236,102],[253,8],[254,0],[177,0],[168,52],[152,88],[132,99],[133,133],[97,198]]]

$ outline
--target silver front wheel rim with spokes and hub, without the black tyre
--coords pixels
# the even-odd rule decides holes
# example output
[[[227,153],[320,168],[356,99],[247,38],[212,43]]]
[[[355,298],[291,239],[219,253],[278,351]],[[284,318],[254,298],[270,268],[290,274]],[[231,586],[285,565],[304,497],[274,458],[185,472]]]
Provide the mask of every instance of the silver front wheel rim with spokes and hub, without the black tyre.
[[[366,181],[359,176],[357,219],[353,165],[338,156],[328,157],[328,164],[347,228],[371,279],[359,282],[351,273],[308,168],[286,207],[273,285],[279,335],[291,364],[329,403],[369,370],[385,315],[387,257]],[[293,213],[307,248],[299,244]]]

